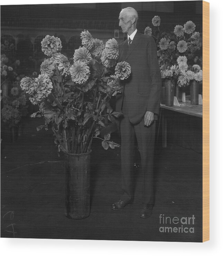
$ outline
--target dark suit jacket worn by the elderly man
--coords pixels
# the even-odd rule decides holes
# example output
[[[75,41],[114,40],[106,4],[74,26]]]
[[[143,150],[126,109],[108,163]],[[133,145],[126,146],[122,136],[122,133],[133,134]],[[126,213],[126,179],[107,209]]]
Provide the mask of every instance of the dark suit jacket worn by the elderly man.
[[[122,110],[124,100],[129,120],[139,123],[146,111],[153,112],[157,119],[160,108],[161,74],[157,60],[156,43],[152,36],[134,36],[128,50],[128,40],[119,45],[118,62],[126,61],[131,66],[131,75],[121,83],[123,93],[116,97],[116,111]]]

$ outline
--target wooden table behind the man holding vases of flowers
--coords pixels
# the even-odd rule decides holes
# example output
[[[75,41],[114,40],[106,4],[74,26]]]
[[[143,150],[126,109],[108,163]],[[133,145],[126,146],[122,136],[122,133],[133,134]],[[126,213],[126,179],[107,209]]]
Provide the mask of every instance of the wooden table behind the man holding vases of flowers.
[[[165,115],[165,109],[183,113],[190,116],[195,116],[202,118],[203,112],[202,112],[202,105],[191,105],[191,101],[181,102],[179,103],[180,106],[172,106],[167,107],[165,104],[160,104],[160,119],[162,118],[162,147],[167,147],[167,118]],[[159,120],[159,126],[160,126]],[[158,128],[159,133],[159,128]]]

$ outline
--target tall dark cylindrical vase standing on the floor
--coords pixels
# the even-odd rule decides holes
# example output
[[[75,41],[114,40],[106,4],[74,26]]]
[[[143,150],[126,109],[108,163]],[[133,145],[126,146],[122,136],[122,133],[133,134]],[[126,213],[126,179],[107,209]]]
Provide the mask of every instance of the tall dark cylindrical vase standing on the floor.
[[[90,156],[64,154],[65,166],[65,216],[84,219],[90,215]]]

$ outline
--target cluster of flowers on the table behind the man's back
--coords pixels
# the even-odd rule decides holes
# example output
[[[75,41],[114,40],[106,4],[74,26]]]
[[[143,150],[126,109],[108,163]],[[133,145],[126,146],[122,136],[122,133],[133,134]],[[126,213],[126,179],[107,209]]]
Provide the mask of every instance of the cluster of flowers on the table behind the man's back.
[[[183,26],[176,25],[173,31],[160,31],[161,19],[152,19],[154,29],[147,27],[144,34],[155,38],[157,55],[163,79],[177,81],[179,86],[188,85],[191,80],[191,68],[194,64],[195,53],[200,49],[199,32],[196,25],[187,21]]]

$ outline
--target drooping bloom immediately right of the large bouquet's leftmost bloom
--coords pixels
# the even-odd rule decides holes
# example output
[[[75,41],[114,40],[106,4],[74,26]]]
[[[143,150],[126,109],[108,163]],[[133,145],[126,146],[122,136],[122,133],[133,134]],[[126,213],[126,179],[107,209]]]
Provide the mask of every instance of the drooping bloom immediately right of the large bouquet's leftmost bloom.
[[[53,84],[47,75],[41,74],[36,79],[35,82],[38,84],[36,88],[37,101],[46,98],[53,89]]]

